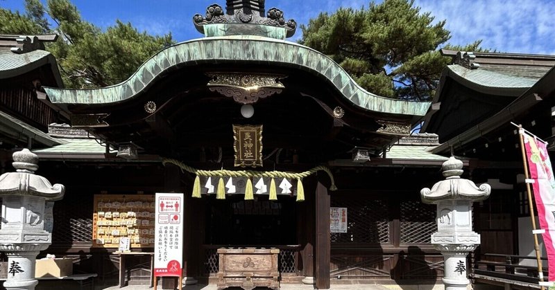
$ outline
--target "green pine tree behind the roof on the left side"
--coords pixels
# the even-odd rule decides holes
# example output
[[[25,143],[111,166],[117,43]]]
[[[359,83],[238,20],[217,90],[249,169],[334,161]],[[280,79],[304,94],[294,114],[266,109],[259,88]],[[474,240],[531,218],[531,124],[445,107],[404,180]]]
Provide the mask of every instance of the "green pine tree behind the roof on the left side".
[[[33,35],[56,33],[58,41],[46,46],[58,61],[65,86],[105,87],[123,82],[157,51],[174,43],[162,36],[139,32],[119,20],[106,30],[81,18],[69,0],[26,0],[26,14],[0,8],[0,33]],[[54,24],[49,24],[46,14]]]

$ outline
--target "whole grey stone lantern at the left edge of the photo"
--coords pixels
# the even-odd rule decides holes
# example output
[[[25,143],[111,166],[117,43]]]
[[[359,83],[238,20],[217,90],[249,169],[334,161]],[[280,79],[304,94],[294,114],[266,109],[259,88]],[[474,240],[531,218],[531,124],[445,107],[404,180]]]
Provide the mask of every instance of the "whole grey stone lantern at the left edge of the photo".
[[[13,154],[16,172],[0,176],[2,227],[0,251],[8,256],[6,289],[35,289],[35,260],[51,244],[51,233],[44,230],[44,206],[64,196],[64,185],[35,175],[38,157],[28,149]]]

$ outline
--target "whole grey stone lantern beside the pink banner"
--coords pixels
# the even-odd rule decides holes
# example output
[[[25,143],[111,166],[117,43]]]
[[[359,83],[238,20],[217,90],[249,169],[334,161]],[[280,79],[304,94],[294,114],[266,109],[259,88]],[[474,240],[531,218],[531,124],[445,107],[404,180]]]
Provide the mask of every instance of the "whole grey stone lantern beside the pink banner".
[[[432,244],[444,257],[443,283],[445,290],[466,289],[466,256],[480,244],[480,235],[472,231],[472,202],[487,199],[490,185],[478,188],[474,182],[461,179],[463,162],[454,158],[443,163],[445,180],[434,184],[432,190],[420,190],[422,202],[437,204],[438,231]]]

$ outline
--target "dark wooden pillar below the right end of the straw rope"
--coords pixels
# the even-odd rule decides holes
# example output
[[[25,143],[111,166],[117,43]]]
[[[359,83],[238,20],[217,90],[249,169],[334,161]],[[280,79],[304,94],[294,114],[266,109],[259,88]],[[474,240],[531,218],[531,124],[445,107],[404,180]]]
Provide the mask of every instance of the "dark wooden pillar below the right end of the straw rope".
[[[330,289],[330,194],[320,182],[316,184],[316,289]]]

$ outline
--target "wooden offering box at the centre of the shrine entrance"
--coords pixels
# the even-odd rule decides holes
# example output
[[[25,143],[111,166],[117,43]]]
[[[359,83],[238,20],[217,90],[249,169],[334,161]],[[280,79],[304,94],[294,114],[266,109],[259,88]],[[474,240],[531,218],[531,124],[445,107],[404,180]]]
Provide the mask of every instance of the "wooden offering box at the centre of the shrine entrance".
[[[241,287],[280,289],[278,248],[219,248],[218,290]]]

